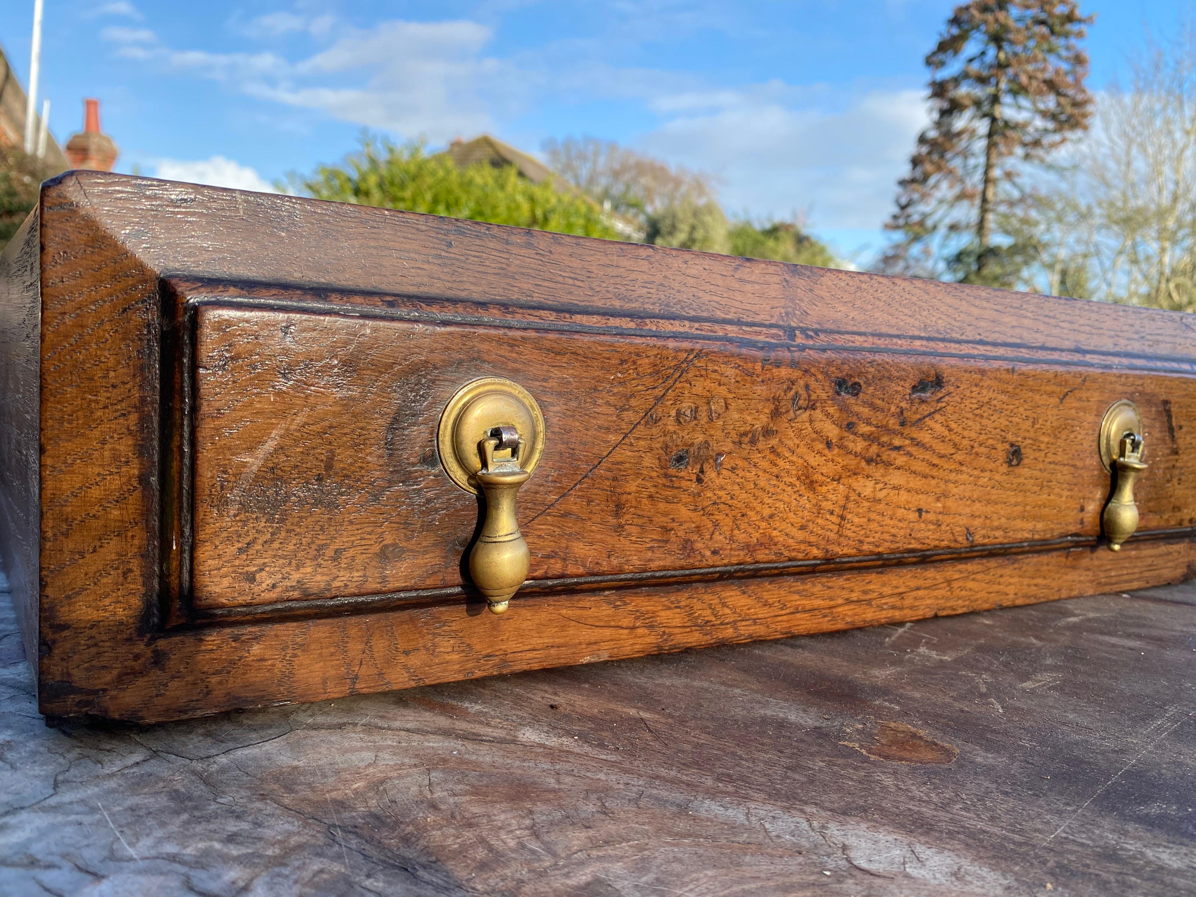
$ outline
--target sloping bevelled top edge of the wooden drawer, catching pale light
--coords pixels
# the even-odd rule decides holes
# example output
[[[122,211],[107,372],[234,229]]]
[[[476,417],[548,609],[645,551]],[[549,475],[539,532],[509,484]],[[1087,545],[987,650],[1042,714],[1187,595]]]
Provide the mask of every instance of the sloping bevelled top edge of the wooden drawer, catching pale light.
[[[181,282],[501,303],[529,312],[755,324],[789,338],[1196,361],[1191,315],[611,243],[393,209],[73,172],[89,215]],[[248,252],[246,246],[252,246]],[[313,297],[316,298],[316,297]]]

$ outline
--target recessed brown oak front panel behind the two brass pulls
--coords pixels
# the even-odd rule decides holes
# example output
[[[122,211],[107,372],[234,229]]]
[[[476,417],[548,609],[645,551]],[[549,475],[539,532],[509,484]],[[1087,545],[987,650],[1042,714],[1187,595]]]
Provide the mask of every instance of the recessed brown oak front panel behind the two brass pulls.
[[[531,580],[1094,537],[1122,397],[1141,530],[1196,507],[1196,390],[1163,374],[221,307],[195,365],[199,609],[459,586],[478,502],[435,431],[482,376],[544,414]]]

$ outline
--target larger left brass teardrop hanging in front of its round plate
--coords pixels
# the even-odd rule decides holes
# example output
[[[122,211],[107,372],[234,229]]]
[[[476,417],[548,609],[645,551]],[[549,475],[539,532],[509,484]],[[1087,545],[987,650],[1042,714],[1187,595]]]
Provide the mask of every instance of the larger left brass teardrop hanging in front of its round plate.
[[[515,519],[515,495],[531,476],[519,466],[524,440],[514,427],[500,426],[478,444],[482,469],[474,475],[486,495],[486,519],[474,550],[469,575],[495,614],[504,614],[527,579],[531,553]],[[496,453],[506,452],[506,458]]]

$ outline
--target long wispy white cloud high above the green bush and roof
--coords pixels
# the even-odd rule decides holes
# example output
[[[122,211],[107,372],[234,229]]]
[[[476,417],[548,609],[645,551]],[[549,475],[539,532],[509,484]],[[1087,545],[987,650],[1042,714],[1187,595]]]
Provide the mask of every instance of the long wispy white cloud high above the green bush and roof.
[[[243,30],[258,37],[306,29],[330,30],[332,19],[271,13]],[[130,30],[127,30],[130,31]],[[493,130],[545,97],[585,103],[596,97],[649,100],[661,92],[682,96],[700,85],[688,74],[615,67],[594,59],[602,45],[566,41],[513,57],[487,55],[494,30],[470,20],[383,22],[342,31],[324,49],[291,60],[277,53],[175,50],[123,37],[117,55],[158,61],[227,84],[231,89],[332,118],[433,144]]]

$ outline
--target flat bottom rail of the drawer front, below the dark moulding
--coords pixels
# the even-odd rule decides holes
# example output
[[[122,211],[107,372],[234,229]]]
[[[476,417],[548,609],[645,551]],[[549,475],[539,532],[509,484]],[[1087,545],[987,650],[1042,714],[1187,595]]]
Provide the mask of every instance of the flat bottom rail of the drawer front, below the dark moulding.
[[[807,576],[526,597],[501,617],[465,600],[301,621],[171,629],[121,645],[74,633],[73,681],[43,681],[43,707],[155,722],[214,709],[315,701],[730,642],[1179,582],[1196,541],[1130,542]],[[103,688],[98,685],[103,683]]]

